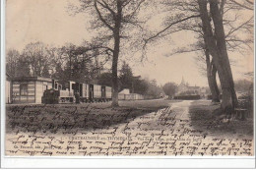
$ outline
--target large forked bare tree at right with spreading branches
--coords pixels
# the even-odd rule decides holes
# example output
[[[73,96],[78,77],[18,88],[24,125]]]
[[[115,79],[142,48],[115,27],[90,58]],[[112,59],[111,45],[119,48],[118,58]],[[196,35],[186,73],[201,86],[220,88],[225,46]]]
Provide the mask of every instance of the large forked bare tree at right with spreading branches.
[[[225,34],[224,33],[224,21],[223,15],[228,9],[224,11],[224,2],[217,0],[174,0],[174,1],[164,1],[171,7],[174,17],[170,16],[167,19],[167,26],[154,35],[146,39],[147,44],[149,41],[157,37],[165,36],[173,32],[180,30],[193,30],[195,32],[202,32],[203,43],[201,42],[200,48],[192,49],[193,51],[201,50],[202,47],[205,50],[205,55],[210,54],[212,56],[212,61],[209,59],[208,55],[208,75],[209,75],[209,84],[211,90],[216,90],[216,96],[218,96],[217,84],[216,84],[216,71],[220,77],[220,82],[223,89],[223,100],[222,108],[225,113],[230,113],[233,110],[233,107],[237,105],[237,97],[234,90],[232,73],[230,69],[229,59],[227,55],[226,43],[230,47],[236,47],[237,42],[240,42],[239,39],[226,39],[226,36],[232,34],[237,29],[244,27],[241,25],[237,28],[233,28],[230,25],[230,21],[227,21],[226,26],[230,26],[230,30]],[[204,4],[204,5],[202,5]],[[207,6],[209,5],[209,6]],[[204,9],[202,10],[202,7]],[[209,8],[208,8],[209,7]],[[232,7],[233,8],[233,7]],[[232,9],[231,8],[231,9]],[[208,11],[210,9],[210,11]],[[237,8],[234,8],[237,9]],[[210,15],[209,15],[210,14]],[[201,20],[198,20],[201,19]],[[252,18],[249,20],[251,23]],[[202,24],[201,24],[202,23]],[[246,24],[246,22],[245,22]],[[248,24],[248,23],[247,23]],[[250,24],[246,26],[250,27]],[[196,26],[196,27],[195,27]],[[197,27],[199,26],[199,27]],[[200,29],[198,29],[200,28]],[[202,31],[203,30],[203,31]],[[233,43],[228,43],[230,40]],[[200,44],[200,43],[199,43]],[[239,45],[239,44],[238,44]],[[145,45],[146,46],[146,45]],[[198,46],[197,46],[198,47]],[[191,51],[192,51],[191,50]],[[186,52],[186,50],[184,50]],[[190,51],[190,50],[188,50]],[[211,61],[211,62],[209,62]],[[212,73],[213,72],[213,73]],[[221,78],[222,77],[222,78]],[[215,85],[213,84],[215,83]],[[212,86],[211,86],[212,85]]]

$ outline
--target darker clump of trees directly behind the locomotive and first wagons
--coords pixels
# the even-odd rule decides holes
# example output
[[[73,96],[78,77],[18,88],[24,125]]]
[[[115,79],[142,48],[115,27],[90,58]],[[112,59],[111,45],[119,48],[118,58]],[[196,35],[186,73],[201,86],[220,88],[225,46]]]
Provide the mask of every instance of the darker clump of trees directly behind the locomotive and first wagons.
[[[99,49],[95,44],[87,42],[82,45],[66,43],[61,48],[52,49],[51,53],[55,66],[53,75],[63,82],[95,84],[97,76],[109,60],[105,49]]]

